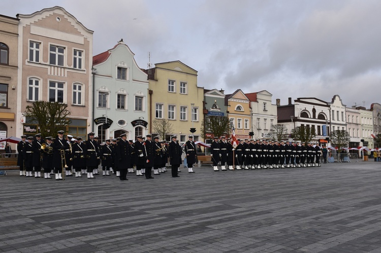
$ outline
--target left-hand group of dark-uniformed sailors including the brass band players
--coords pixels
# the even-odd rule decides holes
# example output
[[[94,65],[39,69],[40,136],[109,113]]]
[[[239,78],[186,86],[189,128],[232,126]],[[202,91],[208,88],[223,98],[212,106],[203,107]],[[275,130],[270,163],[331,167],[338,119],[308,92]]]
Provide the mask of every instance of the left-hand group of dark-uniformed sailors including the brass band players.
[[[153,168],[154,175],[160,175],[167,171],[166,164],[171,157],[172,176],[177,175],[178,167],[181,164],[182,149],[178,143],[177,136],[172,136],[171,143],[158,141],[156,136],[152,140],[152,135],[147,134],[145,140],[143,136],[137,136],[137,140],[127,140],[126,134],[121,134],[116,139],[108,139],[103,146],[98,143],[97,136],[93,132],[88,133],[88,139],[82,141],[82,137],[73,138],[67,135],[63,138],[64,131],[58,131],[57,136],[45,137],[42,140],[41,134],[26,137],[21,136],[21,141],[17,144],[18,161],[20,166],[20,176],[25,174],[31,177],[35,171],[35,177],[51,179],[55,175],[56,180],[63,180],[63,176],[82,177],[87,174],[87,178],[95,178],[99,174],[99,166],[102,166],[103,176],[116,174],[120,180],[128,180],[127,173],[134,173],[147,179],[153,179],[151,174]],[[188,165],[195,163],[196,148],[192,136],[189,136],[189,146],[185,149]],[[193,160],[192,160],[193,159]],[[44,176],[41,175],[43,168]],[[192,167],[189,173],[194,173]]]

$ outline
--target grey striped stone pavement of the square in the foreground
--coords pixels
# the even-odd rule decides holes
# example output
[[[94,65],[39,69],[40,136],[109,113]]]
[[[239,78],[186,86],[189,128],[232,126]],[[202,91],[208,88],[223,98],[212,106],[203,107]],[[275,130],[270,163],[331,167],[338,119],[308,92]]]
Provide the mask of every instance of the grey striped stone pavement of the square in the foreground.
[[[381,162],[0,177],[0,252],[381,252]]]

